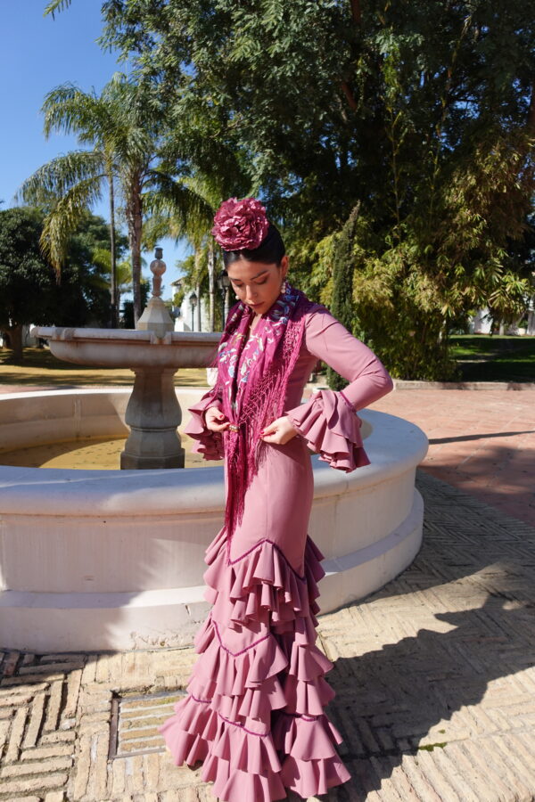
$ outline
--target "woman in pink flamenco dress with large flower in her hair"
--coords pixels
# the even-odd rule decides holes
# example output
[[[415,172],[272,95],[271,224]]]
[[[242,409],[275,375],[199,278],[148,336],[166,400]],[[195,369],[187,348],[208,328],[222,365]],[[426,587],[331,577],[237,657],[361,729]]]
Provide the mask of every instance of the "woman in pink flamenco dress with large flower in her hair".
[[[286,282],[288,257],[264,207],[225,201],[212,229],[239,303],[218,348],[218,381],[185,431],[225,457],[225,525],[206,551],[210,616],[195,636],[188,695],[161,725],[177,765],[204,762],[224,802],[303,798],[350,779],[323,708],[333,667],[315,644],[323,554],[307,535],[309,447],[333,468],[369,461],[356,410],[392,388],[373,352]],[[317,360],[350,381],[300,405]]]

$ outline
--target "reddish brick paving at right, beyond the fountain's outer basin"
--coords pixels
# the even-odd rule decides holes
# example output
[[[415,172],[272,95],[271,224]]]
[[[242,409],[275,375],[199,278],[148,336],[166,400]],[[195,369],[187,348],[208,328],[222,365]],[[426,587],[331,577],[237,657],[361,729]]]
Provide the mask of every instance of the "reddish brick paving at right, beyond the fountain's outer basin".
[[[535,526],[532,389],[396,389],[372,409],[424,430],[425,471]]]

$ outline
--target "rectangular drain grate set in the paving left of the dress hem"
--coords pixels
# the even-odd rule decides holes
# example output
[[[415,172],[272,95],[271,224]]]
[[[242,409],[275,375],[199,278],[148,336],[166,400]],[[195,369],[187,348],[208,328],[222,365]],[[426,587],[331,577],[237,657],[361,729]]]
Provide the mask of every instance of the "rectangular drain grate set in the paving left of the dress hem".
[[[184,696],[182,691],[114,696],[108,759],[163,751],[165,742],[158,727],[173,715],[175,703]]]

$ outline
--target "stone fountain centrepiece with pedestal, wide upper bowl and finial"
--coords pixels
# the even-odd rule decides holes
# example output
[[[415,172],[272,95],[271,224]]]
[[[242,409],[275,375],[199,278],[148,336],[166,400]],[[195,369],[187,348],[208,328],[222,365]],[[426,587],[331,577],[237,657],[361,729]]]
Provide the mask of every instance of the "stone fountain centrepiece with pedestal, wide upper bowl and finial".
[[[130,434],[120,455],[123,470],[184,468],[175,373],[181,367],[206,367],[219,340],[218,334],[173,331],[161,300],[161,276],[166,271],[161,256],[161,248],[156,248],[152,298],[136,331],[40,326],[32,332],[48,340],[53,356],[64,362],[128,367],[136,374],[125,416]]]

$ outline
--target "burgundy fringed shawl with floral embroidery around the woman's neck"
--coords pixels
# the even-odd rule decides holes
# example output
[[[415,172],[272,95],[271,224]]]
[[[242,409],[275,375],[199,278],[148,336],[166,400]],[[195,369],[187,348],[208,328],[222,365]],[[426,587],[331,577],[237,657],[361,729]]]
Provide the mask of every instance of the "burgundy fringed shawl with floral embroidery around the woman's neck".
[[[231,309],[221,337],[218,365],[218,397],[231,421],[225,432],[226,509],[228,538],[243,518],[245,492],[258,470],[262,449],[269,448],[260,431],[281,417],[288,380],[300,352],[305,313],[312,304],[288,282],[254,330],[258,345],[251,359],[240,365],[253,311],[243,303]]]

